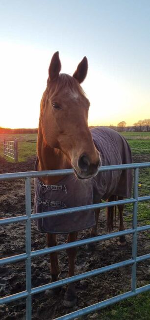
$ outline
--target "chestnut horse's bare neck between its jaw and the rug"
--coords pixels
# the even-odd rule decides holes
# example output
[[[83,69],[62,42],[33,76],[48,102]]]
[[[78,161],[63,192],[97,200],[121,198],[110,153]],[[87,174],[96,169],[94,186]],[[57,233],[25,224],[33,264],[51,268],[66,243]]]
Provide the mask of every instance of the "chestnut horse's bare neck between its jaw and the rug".
[[[38,167],[37,170],[58,170],[58,169],[69,169],[72,167],[71,162],[67,157],[58,149],[50,148],[45,145],[43,137],[38,139],[37,142],[38,151]],[[40,180],[45,185],[57,183],[64,176],[49,176],[41,177]]]

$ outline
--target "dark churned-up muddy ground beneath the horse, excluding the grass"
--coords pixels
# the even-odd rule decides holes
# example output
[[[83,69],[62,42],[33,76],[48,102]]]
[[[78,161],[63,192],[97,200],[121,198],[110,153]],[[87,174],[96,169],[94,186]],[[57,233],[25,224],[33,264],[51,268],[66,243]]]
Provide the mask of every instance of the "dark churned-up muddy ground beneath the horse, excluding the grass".
[[[35,158],[29,158],[26,162],[12,163],[0,157],[0,173],[33,171]],[[134,159],[134,162],[141,159]],[[142,161],[148,161],[142,159]],[[34,187],[32,182],[32,206]],[[0,182],[0,219],[25,214],[25,181]],[[125,215],[128,213],[125,211]],[[117,221],[118,224],[118,221]],[[126,228],[131,224],[125,224]],[[118,227],[114,228],[117,231]],[[105,211],[102,210],[99,221],[99,234],[106,233]],[[79,239],[89,237],[89,230],[80,232]],[[132,236],[126,236],[127,244],[121,249],[117,245],[117,239],[111,239],[97,243],[94,253],[87,252],[85,246],[78,248],[76,256],[76,274],[97,269],[131,258]],[[58,236],[58,244],[66,241],[66,236]],[[39,233],[32,224],[32,250],[47,247],[46,235]],[[138,235],[138,256],[148,254],[150,250],[150,238],[146,233]],[[9,224],[0,227],[0,258],[14,256],[25,252],[25,223]],[[59,252],[61,268],[60,278],[67,277],[68,259],[64,251]],[[150,283],[150,262],[148,260],[137,265],[138,287]],[[39,256],[32,259],[32,288],[50,282],[50,258]],[[32,319],[54,319],[72,311],[84,308],[109,297],[123,293],[131,288],[131,266],[119,268],[97,277],[87,278],[76,283],[77,304],[68,309],[62,305],[65,292],[63,287],[59,296],[50,297],[45,292],[32,297]],[[25,290],[25,261],[14,264],[6,264],[0,267],[0,297]],[[95,319],[94,315],[82,317],[82,319]],[[25,319],[25,300],[17,300],[8,305],[0,306],[0,319],[22,320]]]

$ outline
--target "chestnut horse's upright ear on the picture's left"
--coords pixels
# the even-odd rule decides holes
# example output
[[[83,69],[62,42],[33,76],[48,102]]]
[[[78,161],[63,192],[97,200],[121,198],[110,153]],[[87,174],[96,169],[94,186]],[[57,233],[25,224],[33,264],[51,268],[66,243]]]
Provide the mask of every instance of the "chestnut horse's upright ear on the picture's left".
[[[51,58],[49,66],[49,80],[56,80],[61,70],[61,63],[59,59],[59,52],[55,52]]]

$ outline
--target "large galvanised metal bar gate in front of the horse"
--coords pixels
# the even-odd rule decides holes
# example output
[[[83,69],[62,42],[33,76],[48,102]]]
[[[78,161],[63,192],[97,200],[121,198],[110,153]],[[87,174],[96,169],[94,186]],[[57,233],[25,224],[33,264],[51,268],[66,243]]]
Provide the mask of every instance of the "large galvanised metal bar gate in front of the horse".
[[[119,201],[112,201],[107,203],[99,203],[99,204],[93,204],[89,206],[82,206],[82,207],[75,207],[75,208],[68,208],[68,209],[61,209],[61,210],[54,210],[52,212],[44,212],[44,213],[38,213],[38,214],[31,214],[31,186],[30,186],[30,179],[33,177],[44,177],[44,176],[56,176],[56,175],[66,175],[73,173],[73,169],[66,169],[66,170],[51,170],[51,171],[38,171],[38,172],[23,172],[23,173],[7,173],[7,174],[1,174],[0,180],[12,180],[12,179],[21,179],[25,178],[25,208],[26,208],[26,215],[14,217],[14,218],[6,218],[0,220],[0,225],[2,224],[13,224],[18,222],[25,221],[26,228],[25,228],[25,247],[26,247],[26,253],[16,256],[10,256],[7,258],[0,259],[0,265],[4,265],[7,263],[13,263],[21,260],[25,260],[26,262],[26,290],[12,294],[6,297],[3,297],[0,299],[0,304],[9,303],[14,300],[26,298],[26,320],[31,320],[31,299],[32,295],[43,292],[47,289],[51,288],[57,288],[60,286],[64,286],[66,284],[69,284],[71,282],[75,282],[90,276],[96,276],[100,273],[107,272],[110,270],[114,270],[119,267],[123,267],[126,265],[132,265],[132,275],[131,275],[131,290],[128,292],[125,292],[123,294],[120,294],[118,296],[112,297],[110,299],[101,301],[99,303],[93,304],[89,307],[80,309],[78,311],[72,312],[68,315],[59,317],[57,319],[63,319],[63,320],[69,320],[69,319],[75,319],[77,317],[81,317],[83,315],[89,314],[91,312],[95,312],[97,310],[100,310],[103,307],[109,306],[113,303],[116,303],[118,301],[124,300],[128,297],[137,295],[139,293],[142,293],[144,291],[150,290],[150,284],[143,286],[141,288],[136,288],[136,264],[138,262],[141,262],[145,259],[150,258],[150,254],[143,255],[143,256],[137,256],[137,232],[150,230],[150,225],[145,226],[139,226],[137,227],[137,207],[138,202],[142,201],[148,201],[150,200],[150,195],[148,196],[141,196],[138,197],[138,176],[139,176],[139,168],[145,168],[150,167],[150,162],[145,163],[134,163],[134,164],[122,164],[122,165],[111,165],[111,166],[103,166],[100,168],[100,171],[108,171],[108,170],[124,170],[124,169],[134,169],[134,187],[133,187],[133,197],[125,200],[119,200]],[[59,216],[62,214],[69,214],[72,212],[78,212],[78,211],[84,211],[89,208],[105,208],[107,206],[113,206],[118,204],[127,204],[127,203],[133,203],[133,222],[132,222],[132,228],[127,229],[124,231],[119,232],[113,232],[110,234],[105,234],[102,236],[97,236],[90,239],[85,240],[79,240],[68,244],[62,244],[57,245],[55,247],[45,248],[41,250],[31,251],[31,220],[48,217],[48,216]],[[111,264],[109,266],[101,267],[96,270],[88,271],[79,275],[75,275],[70,278],[66,278],[63,280],[56,281],[54,283],[49,283],[47,285],[43,285],[37,288],[31,288],[31,259],[34,256],[39,255],[46,255],[50,254],[55,251],[64,250],[67,248],[73,248],[76,246],[82,246],[88,243],[98,242],[98,241],[104,241],[110,238],[118,237],[121,235],[126,234],[132,234],[132,256],[128,260],[124,260],[118,263]]]

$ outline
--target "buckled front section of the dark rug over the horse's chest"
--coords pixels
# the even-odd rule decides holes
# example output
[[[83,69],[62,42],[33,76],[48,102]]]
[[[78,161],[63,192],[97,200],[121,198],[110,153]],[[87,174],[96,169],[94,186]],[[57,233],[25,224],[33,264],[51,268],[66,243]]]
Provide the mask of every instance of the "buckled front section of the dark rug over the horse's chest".
[[[92,179],[78,180],[75,175],[65,177],[55,186],[44,186],[35,179],[34,213],[73,208],[93,203]],[[93,210],[71,212],[37,219],[42,232],[69,233],[84,230],[95,224]]]

